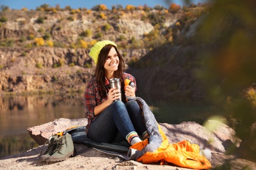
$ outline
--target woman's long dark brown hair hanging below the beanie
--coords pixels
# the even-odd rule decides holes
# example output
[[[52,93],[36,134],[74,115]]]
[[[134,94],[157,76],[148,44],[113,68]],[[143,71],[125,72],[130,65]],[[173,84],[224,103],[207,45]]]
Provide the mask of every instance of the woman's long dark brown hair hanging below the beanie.
[[[117,71],[114,72],[114,77],[120,78],[121,83],[124,82],[123,70],[125,66],[125,61],[123,60],[123,57],[121,56],[121,54],[118,52],[116,46],[112,44],[107,44],[100,50],[100,54],[98,54],[98,63],[96,64],[96,69],[95,69],[95,78],[99,86],[100,97],[106,97],[108,95],[108,93],[106,93],[106,88],[104,86],[104,82],[105,82],[104,64],[106,62],[106,59],[108,58],[108,53],[110,52],[110,49],[112,47],[116,49],[117,56],[119,58],[118,69]]]

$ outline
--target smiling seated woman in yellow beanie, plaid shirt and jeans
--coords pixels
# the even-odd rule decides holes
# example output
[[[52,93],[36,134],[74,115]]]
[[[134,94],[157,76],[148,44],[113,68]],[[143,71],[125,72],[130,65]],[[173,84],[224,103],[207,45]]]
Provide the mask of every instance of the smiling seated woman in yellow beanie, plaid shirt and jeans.
[[[120,142],[131,145],[148,137],[137,101],[126,101],[125,96],[135,97],[136,81],[124,73],[124,60],[112,41],[99,41],[91,48],[89,56],[96,64],[95,76],[87,84],[84,94],[85,117],[88,119],[87,136],[98,143]],[[121,92],[110,88],[110,79],[119,78]],[[125,79],[135,87],[124,86]],[[122,101],[116,100],[121,95]]]

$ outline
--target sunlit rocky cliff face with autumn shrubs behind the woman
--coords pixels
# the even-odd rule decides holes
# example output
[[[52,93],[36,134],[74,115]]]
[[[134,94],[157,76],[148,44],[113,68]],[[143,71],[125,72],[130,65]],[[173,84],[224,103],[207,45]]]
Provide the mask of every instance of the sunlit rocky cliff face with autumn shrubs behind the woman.
[[[1,11],[0,18],[6,21],[0,27],[0,94],[81,92],[93,76],[88,53],[96,41],[115,41],[131,66],[178,37],[186,26],[185,14],[184,10]],[[135,70],[133,74],[144,75]]]

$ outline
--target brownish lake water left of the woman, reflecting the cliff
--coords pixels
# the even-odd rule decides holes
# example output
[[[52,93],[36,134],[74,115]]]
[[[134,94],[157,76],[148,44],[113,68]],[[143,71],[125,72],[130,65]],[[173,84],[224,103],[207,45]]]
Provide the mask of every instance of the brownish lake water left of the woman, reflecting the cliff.
[[[0,97],[0,158],[38,146],[28,127],[56,118],[84,118],[83,94]]]

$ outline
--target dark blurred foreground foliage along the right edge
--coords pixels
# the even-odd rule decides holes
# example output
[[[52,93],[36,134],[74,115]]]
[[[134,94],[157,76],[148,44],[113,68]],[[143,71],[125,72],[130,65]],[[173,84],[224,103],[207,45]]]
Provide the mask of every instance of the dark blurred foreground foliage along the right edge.
[[[256,1],[208,2],[209,12],[193,37],[194,44],[205,44],[197,76],[207,99],[223,108],[223,117],[242,139],[240,156],[256,160]]]

